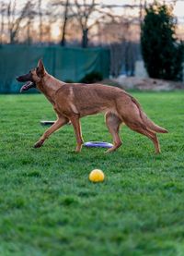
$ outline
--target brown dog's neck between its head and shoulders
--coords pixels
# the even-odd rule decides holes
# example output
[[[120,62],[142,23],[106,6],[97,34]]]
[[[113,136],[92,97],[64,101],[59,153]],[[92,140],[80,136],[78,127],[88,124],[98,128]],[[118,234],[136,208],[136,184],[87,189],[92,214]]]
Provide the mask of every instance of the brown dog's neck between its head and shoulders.
[[[54,104],[55,92],[63,86],[63,82],[53,78],[46,73],[39,82],[37,82],[37,88],[47,97],[47,99]]]

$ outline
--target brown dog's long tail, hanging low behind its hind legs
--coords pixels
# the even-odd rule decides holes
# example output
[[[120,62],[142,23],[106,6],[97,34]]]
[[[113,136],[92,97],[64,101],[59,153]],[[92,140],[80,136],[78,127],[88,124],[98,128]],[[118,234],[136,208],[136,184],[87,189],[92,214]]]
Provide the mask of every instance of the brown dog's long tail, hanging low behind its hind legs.
[[[132,97],[132,96],[131,96]],[[167,133],[166,128],[161,128],[157,126],[151,119],[149,119],[143,112],[141,105],[132,97],[132,102],[136,104],[137,108],[139,109],[139,114],[143,120],[144,126],[154,132],[158,133]]]

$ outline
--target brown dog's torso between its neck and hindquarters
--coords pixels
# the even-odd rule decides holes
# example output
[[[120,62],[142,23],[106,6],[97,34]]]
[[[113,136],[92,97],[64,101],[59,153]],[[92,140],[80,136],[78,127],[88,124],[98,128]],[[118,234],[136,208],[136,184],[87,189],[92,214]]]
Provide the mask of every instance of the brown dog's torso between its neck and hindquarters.
[[[107,111],[117,114],[117,99],[121,98],[122,104],[129,100],[129,96],[119,88],[81,83],[64,84],[57,91],[56,98],[56,103],[61,103],[60,107],[68,108],[70,104],[81,117]]]

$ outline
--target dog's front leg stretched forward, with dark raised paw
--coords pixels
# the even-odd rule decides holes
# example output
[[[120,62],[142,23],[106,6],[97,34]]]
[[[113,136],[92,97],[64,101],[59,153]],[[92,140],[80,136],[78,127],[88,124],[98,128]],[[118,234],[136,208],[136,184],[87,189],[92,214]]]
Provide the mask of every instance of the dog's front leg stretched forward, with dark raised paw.
[[[35,143],[34,148],[40,148],[44,141],[48,139],[54,131],[56,131],[58,128],[63,127],[63,125],[67,124],[68,121],[69,120],[63,116],[58,117],[52,127],[48,128],[40,137],[40,140]]]

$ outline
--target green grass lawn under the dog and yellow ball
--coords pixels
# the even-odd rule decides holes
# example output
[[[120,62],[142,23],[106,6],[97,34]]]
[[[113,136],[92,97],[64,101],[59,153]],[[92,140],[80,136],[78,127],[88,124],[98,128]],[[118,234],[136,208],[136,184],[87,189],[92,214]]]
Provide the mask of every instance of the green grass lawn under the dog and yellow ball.
[[[151,140],[121,128],[117,152],[75,153],[65,126],[40,149],[55,119],[43,95],[0,95],[0,255],[184,255],[184,92],[133,92],[155,123]],[[82,119],[85,141],[111,141],[104,117]],[[88,181],[100,168],[103,183]]]

